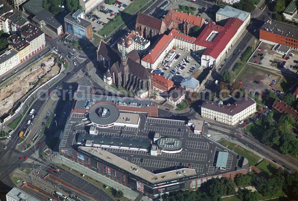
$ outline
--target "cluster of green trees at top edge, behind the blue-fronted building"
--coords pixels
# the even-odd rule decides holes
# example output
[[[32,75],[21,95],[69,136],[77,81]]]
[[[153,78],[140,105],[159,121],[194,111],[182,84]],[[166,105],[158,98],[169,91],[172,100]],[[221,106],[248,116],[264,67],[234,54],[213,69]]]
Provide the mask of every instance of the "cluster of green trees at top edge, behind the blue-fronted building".
[[[42,7],[54,15],[58,15],[63,12],[63,8],[59,7],[62,5],[69,13],[74,13],[80,8],[79,0],[44,0]]]

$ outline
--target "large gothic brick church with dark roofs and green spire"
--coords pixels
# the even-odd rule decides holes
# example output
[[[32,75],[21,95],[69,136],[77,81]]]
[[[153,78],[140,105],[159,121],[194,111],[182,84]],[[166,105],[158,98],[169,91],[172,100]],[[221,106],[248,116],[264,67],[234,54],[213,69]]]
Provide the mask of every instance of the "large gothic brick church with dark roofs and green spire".
[[[125,54],[108,46],[103,40],[97,47],[97,61],[101,70],[105,71],[104,81],[114,84],[117,88],[125,88],[131,93],[142,91],[148,96],[153,91],[152,74],[140,64],[140,57],[136,50]]]

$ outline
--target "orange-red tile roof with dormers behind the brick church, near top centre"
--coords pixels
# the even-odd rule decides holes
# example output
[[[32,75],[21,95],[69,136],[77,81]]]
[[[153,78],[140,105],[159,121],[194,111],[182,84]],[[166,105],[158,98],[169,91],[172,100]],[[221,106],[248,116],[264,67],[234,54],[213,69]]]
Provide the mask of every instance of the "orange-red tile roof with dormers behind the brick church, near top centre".
[[[164,22],[167,27],[170,25],[171,21],[175,21],[177,23],[188,22],[192,26],[197,25],[199,27],[202,27],[205,22],[204,18],[190,15],[188,13],[181,13],[175,10],[169,10],[167,15],[164,17]]]

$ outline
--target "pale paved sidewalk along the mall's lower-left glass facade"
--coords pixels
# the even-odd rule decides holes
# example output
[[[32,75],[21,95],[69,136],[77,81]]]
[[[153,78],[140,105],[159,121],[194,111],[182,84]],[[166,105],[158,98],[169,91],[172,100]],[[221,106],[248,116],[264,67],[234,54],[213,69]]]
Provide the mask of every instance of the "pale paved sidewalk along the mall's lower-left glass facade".
[[[63,159],[63,160],[62,160]],[[105,183],[107,186],[112,186],[113,188],[116,188],[117,190],[122,190],[124,197],[127,197],[128,199],[135,200],[136,197],[139,196],[139,194],[130,188],[123,186],[108,177],[105,177],[101,174],[98,174],[97,172],[94,172],[93,170],[86,168],[78,163],[75,163],[74,161],[69,160],[68,158],[65,158],[61,155],[57,155],[56,157],[53,158],[54,163],[63,163],[66,166],[72,167],[72,169],[76,169],[79,172],[82,172],[96,180],[99,180],[103,183]],[[143,201],[151,201],[151,199],[143,196],[142,199]]]

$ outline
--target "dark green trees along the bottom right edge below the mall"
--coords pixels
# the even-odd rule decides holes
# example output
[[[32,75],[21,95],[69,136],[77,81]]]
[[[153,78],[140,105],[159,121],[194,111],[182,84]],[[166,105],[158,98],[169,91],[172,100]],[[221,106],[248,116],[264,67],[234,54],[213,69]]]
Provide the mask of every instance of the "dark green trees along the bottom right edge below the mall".
[[[252,192],[247,188],[235,187],[253,185],[257,191]],[[227,178],[212,178],[203,183],[198,191],[180,191],[170,194],[166,201],[193,201],[193,200],[222,200],[225,195],[237,195],[243,201],[257,201],[264,197],[270,197],[277,191],[283,190],[290,200],[298,199],[298,173],[286,174],[282,169],[278,169],[272,176],[257,175],[249,173],[247,175],[237,174],[235,182]]]

